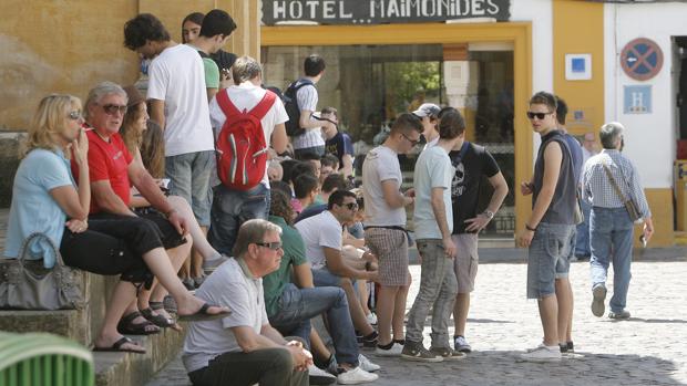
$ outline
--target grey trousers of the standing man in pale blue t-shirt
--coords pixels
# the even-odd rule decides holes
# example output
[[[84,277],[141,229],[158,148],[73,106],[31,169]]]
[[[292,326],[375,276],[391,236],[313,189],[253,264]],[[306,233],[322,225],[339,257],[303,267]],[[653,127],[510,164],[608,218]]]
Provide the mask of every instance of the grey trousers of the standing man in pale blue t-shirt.
[[[450,347],[449,320],[458,294],[453,259],[447,258],[441,240],[422,239],[417,243],[422,258],[422,274],[420,291],[408,314],[406,341],[422,343],[424,321],[433,309],[432,347]]]

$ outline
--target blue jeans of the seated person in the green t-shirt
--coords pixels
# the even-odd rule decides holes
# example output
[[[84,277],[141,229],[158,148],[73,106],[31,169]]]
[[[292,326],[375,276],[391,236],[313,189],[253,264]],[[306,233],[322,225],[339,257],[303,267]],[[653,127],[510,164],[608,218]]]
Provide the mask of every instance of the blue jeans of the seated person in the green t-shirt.
[[[327,313],[337,362],[357,366],[358,341],[346,292],[340,288],[298,289],[287,284],[279,299],[279,313],[269,315],[269,324],[285,336],[296,335],[310,342],[310,319],[321,313]]]

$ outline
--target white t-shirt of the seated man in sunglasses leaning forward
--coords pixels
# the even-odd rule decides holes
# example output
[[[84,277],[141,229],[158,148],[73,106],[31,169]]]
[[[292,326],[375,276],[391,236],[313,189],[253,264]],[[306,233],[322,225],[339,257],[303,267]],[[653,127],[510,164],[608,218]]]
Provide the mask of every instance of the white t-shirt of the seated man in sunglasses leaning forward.
[[[344,228],[329,210],[298,221],[294,227],[306,243],[306,255],[314,270],[327,264],[324,247],[341,250]]]

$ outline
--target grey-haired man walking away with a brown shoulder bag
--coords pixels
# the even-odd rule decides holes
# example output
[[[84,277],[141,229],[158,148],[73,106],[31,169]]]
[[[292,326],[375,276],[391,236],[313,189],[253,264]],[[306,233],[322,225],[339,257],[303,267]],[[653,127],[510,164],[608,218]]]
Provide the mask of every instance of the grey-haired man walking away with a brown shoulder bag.
[[[644,238],[648,241],[654,234],[652,211],[644,196],[639,174],[629,158],[623,155],[623,132],[621,123],[612,122],[602,126],[598,136],[603,146],[601,154],[589,158],[583,175],[583,199],[592,205],[589,236],[592,244],[592,313],[602,316],[605,311],[606,274],[613,259],[613,298],[608,317],[625,320],[629,312],[627,289],[629,288],[629,265],[634,240],[634,223],[624,201],[633,200],[644,219]],[[612,180],[613,178],[613,180]],[[623,197],[613,185],[617,185]]]

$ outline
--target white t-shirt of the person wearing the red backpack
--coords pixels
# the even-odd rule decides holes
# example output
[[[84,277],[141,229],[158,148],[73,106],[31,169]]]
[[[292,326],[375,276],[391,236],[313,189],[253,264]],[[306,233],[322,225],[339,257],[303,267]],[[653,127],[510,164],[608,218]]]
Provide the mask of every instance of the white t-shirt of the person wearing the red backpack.
[[[256,86],[250,82],[244,82],[239,85],[233,85],[228,88],[219,91],[221,93],[228,93],[229,100],[239,111],[250,111],[253,107],[257,106],[257,104],[263,100],[265,93],[267,92],[265,88],[260,86]],[[219,107],[217,103],[217,98],[213,98],[209,102],[209,119],[215,132],[219,133],[224,122],[226,121],[226,115]],[[284,108],[284,103],[278,97],[275,98],[275,103],[271,108],[265,114],[260,124],[263,125],[263,132],[265,133],[265,143],[269,145],[269,140],[271,138],[271,133],[275,131],[275,126],[288,121],[288,114],[286,114],[286,109]],[[263,177],[263,181],[260,182],[265,186],[269,186],[269,178],[267,177],[267,169],[265,169],[265,176]]]

